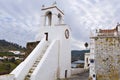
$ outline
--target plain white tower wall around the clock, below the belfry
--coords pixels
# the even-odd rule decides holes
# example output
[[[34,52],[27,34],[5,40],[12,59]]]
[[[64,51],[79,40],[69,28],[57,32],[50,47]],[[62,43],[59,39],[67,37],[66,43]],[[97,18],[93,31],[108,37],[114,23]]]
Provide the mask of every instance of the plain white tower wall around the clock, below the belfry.
[[[69,39],[65,37],[65,30],[69,30]],[[67,25],[46,26],[41,27],[40,36],[48,32],[48,41],[60,40],[59,46],[59,78],[65,78],[65,70],[67,77],[71,76],[71,30]],[[39,39],[38,39],[39,40]]]

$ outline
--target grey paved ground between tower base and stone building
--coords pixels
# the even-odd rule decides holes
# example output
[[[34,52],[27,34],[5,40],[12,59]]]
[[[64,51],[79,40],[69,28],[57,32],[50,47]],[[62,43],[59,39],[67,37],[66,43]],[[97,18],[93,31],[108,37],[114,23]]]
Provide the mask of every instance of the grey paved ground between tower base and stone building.
[[[88,77],[89,77],[89,72],[87,71],[77,75],[73,75],[68,80],[88,80]]]

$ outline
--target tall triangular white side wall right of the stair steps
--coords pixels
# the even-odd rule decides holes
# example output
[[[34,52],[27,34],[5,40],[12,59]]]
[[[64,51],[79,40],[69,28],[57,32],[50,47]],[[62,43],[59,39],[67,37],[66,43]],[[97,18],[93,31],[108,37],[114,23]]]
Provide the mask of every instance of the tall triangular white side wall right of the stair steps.
[[[58,71],[59,41],[53,41],[45,52],[41,62],[31,75],[31,80],[56,80]]]

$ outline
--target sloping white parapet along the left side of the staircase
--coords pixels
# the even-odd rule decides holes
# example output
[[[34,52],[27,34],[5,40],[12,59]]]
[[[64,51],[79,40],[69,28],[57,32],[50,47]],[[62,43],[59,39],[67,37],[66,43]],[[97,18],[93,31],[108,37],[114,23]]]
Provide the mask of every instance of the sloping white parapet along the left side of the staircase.
[[[15,75],[15,80],[24,80],[25,76],[33,66],[36,59],[41,55],[44,46],[47,44],[45,38],[43,38],[36,48],[30,53],[30,55],[23,61],[17,68],[15,68],[10,74]]]

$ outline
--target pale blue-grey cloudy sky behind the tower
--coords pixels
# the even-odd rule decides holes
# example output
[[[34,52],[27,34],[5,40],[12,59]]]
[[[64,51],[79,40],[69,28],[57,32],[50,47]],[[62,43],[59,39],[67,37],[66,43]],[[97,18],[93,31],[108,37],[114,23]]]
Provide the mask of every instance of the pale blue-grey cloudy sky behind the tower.
[[[0,39],[34,41],[40,28],[41,6],[54,1],[65,13],[72,30],[72,49],[84,49],[90,31],[113,28],[120,22],[120,0],[0,0]]]

